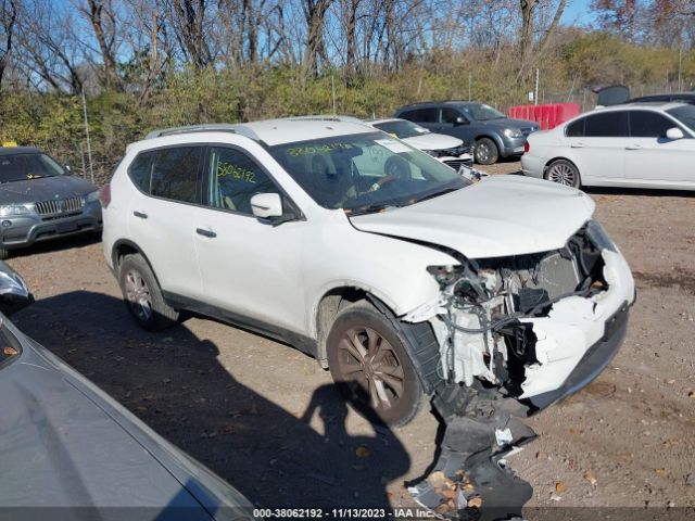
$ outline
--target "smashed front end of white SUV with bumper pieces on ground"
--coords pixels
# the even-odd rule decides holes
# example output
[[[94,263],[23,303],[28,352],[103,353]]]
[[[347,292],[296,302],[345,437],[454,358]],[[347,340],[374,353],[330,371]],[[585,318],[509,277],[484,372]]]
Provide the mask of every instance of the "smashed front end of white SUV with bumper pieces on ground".
[[[427,320],[446,377],[432,405],[445,429],[438,459],[409,491],[445,519],[521,516],[531,497],[505,458],[535,437],[522,419],[591,383],[624,339],[630,269],[589,223],[563,251],[430,272],[442,293],[402,318]]]

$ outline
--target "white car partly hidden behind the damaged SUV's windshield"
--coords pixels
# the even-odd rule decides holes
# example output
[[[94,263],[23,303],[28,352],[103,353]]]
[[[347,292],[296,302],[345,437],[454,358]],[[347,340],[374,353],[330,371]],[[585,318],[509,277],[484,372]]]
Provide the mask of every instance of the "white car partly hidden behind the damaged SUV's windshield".
[[[460,139],[453,136],[430,132],[427,128],[407,119],[374,119],[367,122],[367,124],[405,141],[422,152],[427,152],[455,170],[458,170],[462,166],[467,166],[468,168],[473,166],[470,147],[466,147]]]

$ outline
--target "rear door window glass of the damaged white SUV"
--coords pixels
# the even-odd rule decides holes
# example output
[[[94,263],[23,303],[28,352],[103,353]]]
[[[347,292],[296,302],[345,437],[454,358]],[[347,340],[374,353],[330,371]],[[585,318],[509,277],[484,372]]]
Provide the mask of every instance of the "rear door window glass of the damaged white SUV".
[[[199,203],[198,178],[203,147],[153,151],[150,193],[184,203]]]

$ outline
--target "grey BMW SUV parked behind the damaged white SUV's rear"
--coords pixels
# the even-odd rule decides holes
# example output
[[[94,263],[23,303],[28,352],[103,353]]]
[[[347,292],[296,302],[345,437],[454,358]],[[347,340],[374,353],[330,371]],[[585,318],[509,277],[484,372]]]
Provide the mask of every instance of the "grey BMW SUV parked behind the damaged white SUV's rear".
[[[0,258],[12,250],[101,232],[99,191],[30,147],[0,147]]]

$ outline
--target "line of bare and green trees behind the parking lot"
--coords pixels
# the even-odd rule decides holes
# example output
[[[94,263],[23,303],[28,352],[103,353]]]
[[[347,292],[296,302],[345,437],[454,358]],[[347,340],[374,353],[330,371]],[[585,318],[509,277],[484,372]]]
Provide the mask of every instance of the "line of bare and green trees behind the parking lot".
[[[568,18],[584,5],[581,20]],[[574,8],[572,11],[570,8]],[[693,0],[0,0],[0,138],[100,175],[155,126],[695,81]],[[577,23],[576,23],[577,22]],[[691,87],[692,88],[692,87]]]

